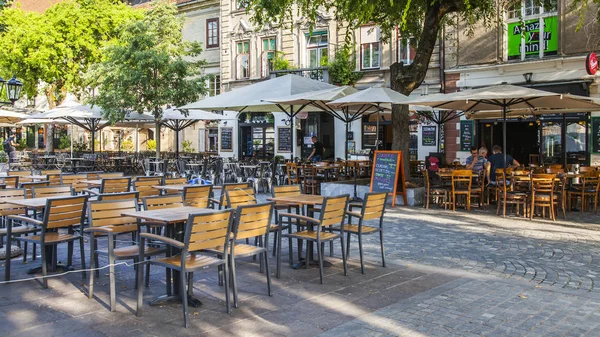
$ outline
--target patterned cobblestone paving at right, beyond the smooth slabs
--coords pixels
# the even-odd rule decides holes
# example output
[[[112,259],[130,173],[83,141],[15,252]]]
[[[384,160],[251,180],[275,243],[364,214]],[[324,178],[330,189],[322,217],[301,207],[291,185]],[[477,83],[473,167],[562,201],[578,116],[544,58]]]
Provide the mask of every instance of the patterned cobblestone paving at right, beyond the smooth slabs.
[[[600,215],[572,212],[567,218],[397,208],[386,216],[387,257],[600,292]],[[365,246],[370,258],[380,259],[377,238]]]

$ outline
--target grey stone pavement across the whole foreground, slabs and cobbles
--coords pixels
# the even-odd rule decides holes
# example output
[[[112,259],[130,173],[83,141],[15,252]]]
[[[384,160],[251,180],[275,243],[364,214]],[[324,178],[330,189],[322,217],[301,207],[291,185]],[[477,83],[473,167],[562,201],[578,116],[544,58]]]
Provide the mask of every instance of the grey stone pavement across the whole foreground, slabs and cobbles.
[[[159,268],[145,289],[143,315],[135,316],[127,266],[116,267],[116,312],[108,310],[107,270],[92,300],[80,273],[52,278],[47,290],[37,281],[0,284],[0,328],[3,336],[600,336],[599,225],[590,212],[551,222],[492,210],[396,208],[386,214],[387,268],[377,237],[367,236],[365,275],[353,241],[348,276],[336,245],[321,285],[316,268],[288,267],[284,245],[272,297],[257,263],[239,261],[240,307],[231,314],[216,271],[197,273],[194,294],[204,305],[190,310],[188,329],[180,304],[147,305],[164,292]],[[13,278],[29,277],[36,263],[15,260]]]

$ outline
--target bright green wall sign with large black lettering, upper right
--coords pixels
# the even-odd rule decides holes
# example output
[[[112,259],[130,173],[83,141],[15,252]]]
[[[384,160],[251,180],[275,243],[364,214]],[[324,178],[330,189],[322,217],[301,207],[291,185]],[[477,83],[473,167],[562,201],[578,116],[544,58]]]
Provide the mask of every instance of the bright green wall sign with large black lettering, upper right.
[[[556,55],[558,53],[558,18],[549,16],[543,18],[544,27],[540,25],[540,19],[513,22],[508,24],[508,59],[521,59],[521,38],[525,39],[525,58],[539,57],[540,37],[544,56]]]

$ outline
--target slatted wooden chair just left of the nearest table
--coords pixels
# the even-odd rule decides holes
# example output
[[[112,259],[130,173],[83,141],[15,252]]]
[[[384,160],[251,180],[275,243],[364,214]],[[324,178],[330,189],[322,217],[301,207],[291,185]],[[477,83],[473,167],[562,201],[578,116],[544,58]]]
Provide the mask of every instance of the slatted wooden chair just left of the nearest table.
[[[117,236],[122,234],[133,234],[134,236],[140,231],[136,218],[122,216],[126,211],[138,211],[139,204],[136,199],[118,200],[118,201],[93,201],[88,205],[88,223],[90,227],[84,229],[84,232],[89,233],[90,243],[90,269],[97,267],[97,256],[103,255],[108,257],[109,265],[109,292],[110,292],[110,311],[115,311],[116,306],[116,286],[115,286],[115,267],[116,261],[133,260],[138,262],[140,248],[138,245],[120,245],[117,247]],[[100,236],[107,237],[107,249],[98,248],[98,238]],[[163,249],[156,246],[145,246],[144,256],[152,256],[163,253]],[[136,266],[135,269],[143,265]],[[146,280],[149,278],[150,269],[146,268]],[[94,272],[90,273],[88,297],[94,297]],[[98,273],[99,275],[99,273]],[[136,273],[138,277],[138,273]],[[135,285],[138,282],[136,279]],[[148,286],[148,284],[146,284]]]

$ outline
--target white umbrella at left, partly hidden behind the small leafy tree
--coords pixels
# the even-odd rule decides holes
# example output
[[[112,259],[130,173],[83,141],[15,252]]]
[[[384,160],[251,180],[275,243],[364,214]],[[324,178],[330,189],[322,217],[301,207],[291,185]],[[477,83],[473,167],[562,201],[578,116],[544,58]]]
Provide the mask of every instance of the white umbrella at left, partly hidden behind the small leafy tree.
[[[103,120],[104,116],[100,107],[84,105],[76,101],[67,100],[54,109],[44,113],[32,115],[31,118],[59,119],[67,120],[92,134],[92,153],[94,153],[94,142],[96,131],[108,126],[110,122]],[[148,115],[129,112],[125,114],[125,120],[128,121],[152,121],[153,118]]]

